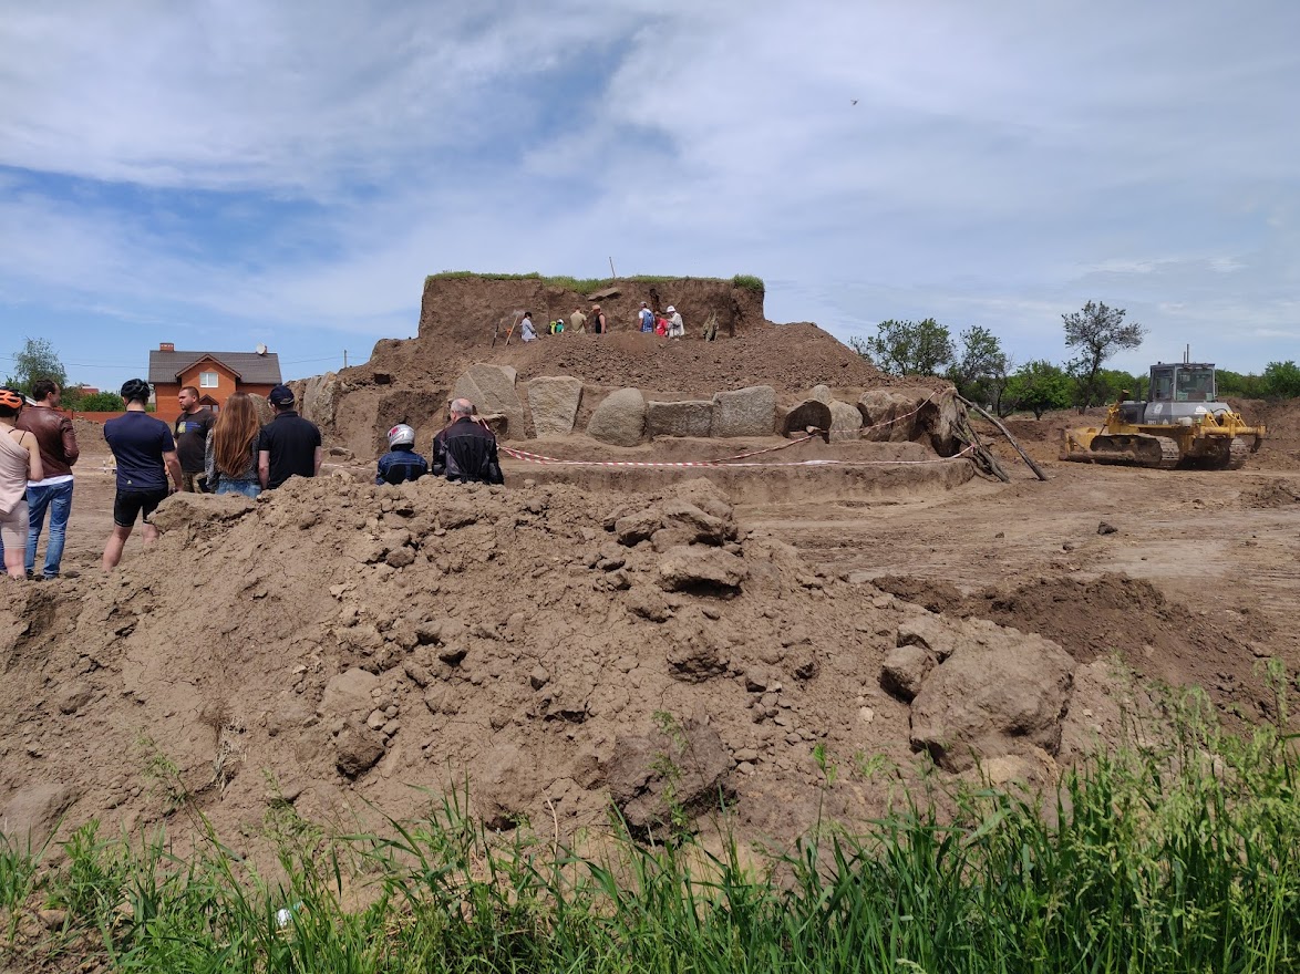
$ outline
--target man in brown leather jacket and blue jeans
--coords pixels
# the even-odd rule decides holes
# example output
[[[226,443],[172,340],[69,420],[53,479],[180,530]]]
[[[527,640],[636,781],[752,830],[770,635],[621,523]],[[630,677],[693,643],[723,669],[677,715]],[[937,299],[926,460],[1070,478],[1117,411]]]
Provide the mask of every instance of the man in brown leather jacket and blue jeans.
[[[73,464],[81,456],[73,421],[58,410],[62,390],[53,379],[39,379],[31,387],[36,405],[18,416],[18,429],[27,430],[40,447],[44,479],[27,483],[27,578],[42,581],[58,578],[58,564],[64,557],[64,538],[68,517],[73,510]],[[46,568],[36,574],[36,542],[49,512],[49,538],[46,542]]]

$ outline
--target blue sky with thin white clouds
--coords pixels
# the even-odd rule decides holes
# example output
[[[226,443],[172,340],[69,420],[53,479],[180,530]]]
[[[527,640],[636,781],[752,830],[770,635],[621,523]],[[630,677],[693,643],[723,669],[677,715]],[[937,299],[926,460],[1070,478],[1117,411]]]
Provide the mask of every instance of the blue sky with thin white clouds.
[[[1300,360],[1294,0],[0,0],[0,373],[159,342],[286,378],[425,274],[758,274],[848,339]],[[853,101],[857,100],[857,104]],[[689,325],[689,322],[688,322]]]

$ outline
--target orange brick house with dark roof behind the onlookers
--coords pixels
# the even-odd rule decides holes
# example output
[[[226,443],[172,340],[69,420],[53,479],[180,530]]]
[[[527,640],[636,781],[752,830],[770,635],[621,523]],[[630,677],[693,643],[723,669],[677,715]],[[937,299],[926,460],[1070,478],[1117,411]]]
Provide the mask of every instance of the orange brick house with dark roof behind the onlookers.
[[[181,414],[176,397],[186,386],[199,390],[202,405],[218,412],[231,392],[265,396],[280,382],[280,356],[274,352],[177,352],[170,342],[150,352],[156,416],[168,423]]]

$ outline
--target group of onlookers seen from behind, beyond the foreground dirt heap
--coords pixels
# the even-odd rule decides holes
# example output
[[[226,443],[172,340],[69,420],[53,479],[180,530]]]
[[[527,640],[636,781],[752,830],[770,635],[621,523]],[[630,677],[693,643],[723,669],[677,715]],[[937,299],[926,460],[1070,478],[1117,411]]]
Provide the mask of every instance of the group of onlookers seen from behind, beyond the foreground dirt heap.
[[[34,581],[60,575],[73,474],[79,449],[72,419],[62,413],[58,384],[42,379],[32,387],[34,405],[0,388],[0,555],[13,578]],[[266,400],[274,418],[261,425],[247,392],[233,393],[220,413],[199,405],[199,392],[186,386],[178,395],[174,426],[150,416],[150,384],[130,379],[122,386],[126,412],[104,423],[104,439],[117,462],[113,531],[104,544],[103,568],[114,568],[136,521],[144,544],[157,539],[150,516],[178,491],[242,493],[256,497],[290,477],[316,477],[321,468],[321,434],[295,410],[287,386],[276,386]],[[503,483],[497,438],[474,416],[474,405],[456,399],[451,422],[433,439],[425,461],[415,452],[415,430],[398,423],[389,430],[389,452],[380,457],[376,483],[415,481],[428,473],[463,483]],[[43,570],[36,573],[36,545],[49,514]],[[77,573],[69,571],[68,577]]]

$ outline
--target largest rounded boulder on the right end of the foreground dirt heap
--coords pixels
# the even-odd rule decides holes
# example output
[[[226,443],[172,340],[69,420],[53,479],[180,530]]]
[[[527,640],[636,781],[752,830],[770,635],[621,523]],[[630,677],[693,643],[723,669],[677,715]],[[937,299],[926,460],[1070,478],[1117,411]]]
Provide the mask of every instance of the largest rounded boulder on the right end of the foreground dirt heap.
[[[1056,643],[992,623],[963,623],[962,645],[911,704],[911,743],[950,771],[1022,752],[1056,753],[1074,660]]]

